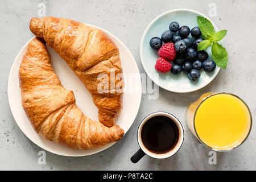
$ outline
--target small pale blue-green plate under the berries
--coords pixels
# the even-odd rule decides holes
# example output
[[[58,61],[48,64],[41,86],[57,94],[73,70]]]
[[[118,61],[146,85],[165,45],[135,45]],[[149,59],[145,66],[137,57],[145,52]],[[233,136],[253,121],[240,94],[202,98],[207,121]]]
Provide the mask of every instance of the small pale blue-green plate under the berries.
[[[142,65],[148,77],[163,89],[177,93],[193,92],[208,85],[220,71],[219,67],[216,67],[216,69],[211,73],[206,73],[202,69],[200,79],[197,81],[191,81],[188,79],[187,74],[183,72],[176,76],[171,72],[159,73],[154,68],[156,59],[158,59],[159,56],[158,52],[150,47],[150,39],[154,36],[160,37],[163,31],[169,30],[169,24],[174,21],[178,22],[180,26],[186,25],[189,28],[196,27],[198,26],[196,22],[197,16],[204,16],[209,19],[207,16],[193,10],[175,9],[167,11],[152,20],[144,31],[140,48]],[[215,30],[218,31],[216,25],[213,22],[212,24]],[[191,37],[191,35],[189,36]],[[209,54],[209,58],[212,56],[210,48],[211,47],[206,50]]]

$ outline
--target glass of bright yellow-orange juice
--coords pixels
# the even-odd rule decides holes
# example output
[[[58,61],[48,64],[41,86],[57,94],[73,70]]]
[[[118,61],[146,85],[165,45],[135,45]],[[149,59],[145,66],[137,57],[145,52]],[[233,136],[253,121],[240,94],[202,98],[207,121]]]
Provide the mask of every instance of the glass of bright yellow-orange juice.
[[[230,93],[205,93],[188,106],[187,125],[201,143],[214,151],[230,151],[248,137],[252,118],[249,107]]]

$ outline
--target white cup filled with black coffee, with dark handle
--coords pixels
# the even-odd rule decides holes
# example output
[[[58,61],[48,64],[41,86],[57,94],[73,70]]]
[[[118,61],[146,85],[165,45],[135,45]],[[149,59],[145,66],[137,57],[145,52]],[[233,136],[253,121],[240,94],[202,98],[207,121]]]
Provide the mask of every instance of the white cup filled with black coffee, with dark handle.
[[[155,112],[143,119],[137,132],[139,147],[131,162],[137,163],[144,155],[166,159],[180,149],[184,140],[183,127],[174,115]]]

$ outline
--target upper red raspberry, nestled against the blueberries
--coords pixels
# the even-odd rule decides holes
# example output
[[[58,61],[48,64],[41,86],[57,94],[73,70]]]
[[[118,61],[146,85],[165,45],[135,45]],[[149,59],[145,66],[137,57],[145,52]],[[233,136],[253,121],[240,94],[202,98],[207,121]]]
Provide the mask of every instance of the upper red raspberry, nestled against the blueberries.
[[[174,43],[166,43],[159,49],[158,55],[168,59],[169,61],[175,60],[176,51],[174,48]]]

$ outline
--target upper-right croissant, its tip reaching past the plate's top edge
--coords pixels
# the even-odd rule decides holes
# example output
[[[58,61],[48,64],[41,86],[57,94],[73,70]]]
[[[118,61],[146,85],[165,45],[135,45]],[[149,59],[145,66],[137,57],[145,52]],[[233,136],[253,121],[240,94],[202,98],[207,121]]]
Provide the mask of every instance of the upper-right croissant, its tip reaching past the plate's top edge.
[[[123,94],[121,60],[113,41],[101,30],[63,18],[32,18],[30,30],[55,49],[80,78],[98,107],[99,121],[113,126]],[[99,86],[105,87],[99,92]]]

